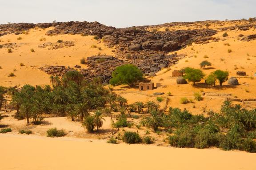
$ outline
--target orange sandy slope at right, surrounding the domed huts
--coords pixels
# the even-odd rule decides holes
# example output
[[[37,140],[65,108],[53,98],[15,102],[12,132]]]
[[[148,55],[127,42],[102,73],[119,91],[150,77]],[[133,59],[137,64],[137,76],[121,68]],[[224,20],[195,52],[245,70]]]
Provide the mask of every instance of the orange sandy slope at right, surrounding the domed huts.
[[[168,98],[168,106],[186,108],[194,114],[203,113],[202,107],[204,106],[208,108],[207,110],[211,109],[213,111],[218,111],[221,103],[223,103],[227,97],[226,94],[231,94],[230,97],[237,97],[238,99],[255,99],[256,77],[253,75],[256,73],[256,41],[240,41],[238,40],[238,35],[252,35],[256,33],[256,30],[228,31],[228,37],[222,37],[223,33],[224,32],[219,32],[215,35],[215,37],[220,38],[219,42],[210,42],[207,44],[193,43],[192,46],[176,51],[178,55],[185,55],[185,57],[172,67],[164,69],[158,72],[156,74],[157,76],[150,78],[153,83],[161,83],[162,87],[152,91],[139,91],[138,88],[127,88],[125,85],[121,85],[115,87],[116,93],[127,98],[129,103],[134,103],[136,101],[146,102],[149,99],[156,101],[156,97],[152,97],[153,93],[164,92],[165,95],[161,96],[164,98],[164,101],[160,103],[162,106],[164,106],[165,101]],[[224,43],[229,43],[230,46],[225,46]],[[231,49],[232,52],[228,53],[228,49]],[[205,58],[205,55],[207,55],[208,58]],[[192,83],[177,85],[176,78],[172,78],[173,70],[182,69],[184,67],[200,68],[199,64],[204,60],[208,60],[212,63],[211,67],[202,69],[206,75],[216,69],[220,69],[229,71],[229,77],[237,77],[236,71],[246,71],[248,76],[237,78],[240,83],[239,86],[228,86],[227,82],[224,83],[223,87],[216,86],[216,88],[205,86],[200,83],[197,86],[192,86]],[[253,79],[251,79],[251,77]],[[204,83],[204,81],[201,83]],[[193,93],[200,91],[212,92],[222,96],[204,96],[203,101],[197,102],[194,100]],[[172,96],[167,96],[168,92],[171,92]],[[180,104],[180,99],[182,97],[193,99],[194,102],[186,105]],[[246,108],[256,107],[256,102],[244,102],[240,104]],[[193,108],[193,106],[195,106],[195,108]]]

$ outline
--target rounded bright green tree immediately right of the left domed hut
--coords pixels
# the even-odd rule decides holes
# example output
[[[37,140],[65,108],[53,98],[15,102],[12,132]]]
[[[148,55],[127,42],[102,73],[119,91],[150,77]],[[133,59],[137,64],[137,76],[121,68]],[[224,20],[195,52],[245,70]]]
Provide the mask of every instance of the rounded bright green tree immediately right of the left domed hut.
[[[193,85],[195,85],[196,82],[200,82],[201,79],[204,78],[204,72],[200,69],[195,69],[191,67],[186,67],[184,69],[185,75],[184,79],[187,79],[189,82],[193,82]]]

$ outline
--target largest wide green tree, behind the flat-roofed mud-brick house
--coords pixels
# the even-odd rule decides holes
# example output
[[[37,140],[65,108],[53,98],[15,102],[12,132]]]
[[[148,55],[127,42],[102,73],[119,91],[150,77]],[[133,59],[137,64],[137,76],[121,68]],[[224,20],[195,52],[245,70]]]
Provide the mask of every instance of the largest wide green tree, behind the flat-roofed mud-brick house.
[[[141,79],[143,79],[143,73],[138,69],[138,67],[133,64],[125,64],[116,67],[116,70],[112,72],[110,84],[113,86],[118,84],[128,84],[131,87]]]

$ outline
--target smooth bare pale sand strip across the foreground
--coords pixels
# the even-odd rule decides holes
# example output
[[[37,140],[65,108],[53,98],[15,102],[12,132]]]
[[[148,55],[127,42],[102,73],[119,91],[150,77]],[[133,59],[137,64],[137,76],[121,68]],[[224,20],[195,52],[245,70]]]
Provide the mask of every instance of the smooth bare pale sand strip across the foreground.
[[[104,140],[88,142],[12,134],[1,134],[0,141],[1,170],[256,169],[256,154],[240,151],[114,145]]]

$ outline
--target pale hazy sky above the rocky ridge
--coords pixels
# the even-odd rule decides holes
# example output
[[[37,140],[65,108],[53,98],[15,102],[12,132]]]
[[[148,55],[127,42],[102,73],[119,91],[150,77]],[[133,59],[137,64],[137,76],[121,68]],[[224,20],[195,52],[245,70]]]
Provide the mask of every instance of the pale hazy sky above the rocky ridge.
[[[256,16],[256,0],[0,0],[0,24],[98,21],[130,27]]]

